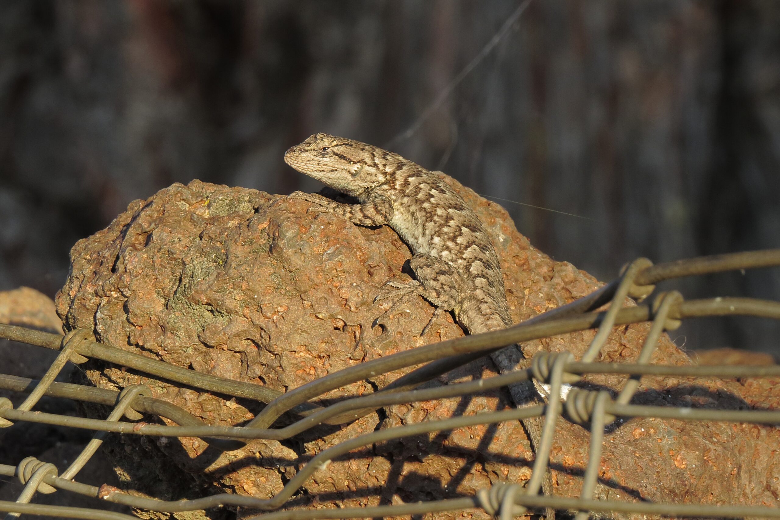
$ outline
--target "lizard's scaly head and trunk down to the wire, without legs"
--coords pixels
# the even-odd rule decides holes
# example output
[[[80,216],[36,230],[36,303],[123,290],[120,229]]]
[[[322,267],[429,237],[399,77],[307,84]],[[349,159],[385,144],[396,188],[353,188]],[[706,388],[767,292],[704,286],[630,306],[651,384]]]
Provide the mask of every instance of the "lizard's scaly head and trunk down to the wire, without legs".
[[[361,203],[381,200],[413,253],[452,267],[459,299],[456,319],[470,333],[509,327],[509,306],[490,235],[462,196],[419,164],[371,144],[317,133],[285,154],[285,161]]]

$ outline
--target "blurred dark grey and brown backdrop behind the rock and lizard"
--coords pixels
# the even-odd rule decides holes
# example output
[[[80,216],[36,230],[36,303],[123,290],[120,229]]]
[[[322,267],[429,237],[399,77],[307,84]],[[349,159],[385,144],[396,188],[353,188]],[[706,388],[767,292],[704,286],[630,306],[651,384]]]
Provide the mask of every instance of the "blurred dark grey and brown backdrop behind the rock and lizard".
[[[0,2],[0,289],[53,296],[77,239],[172,182],[317,190],[282,162],[317,131],[585,217],[501,201],[604,280],[636,256],[780,246],[780,2],[535,0],[512,23],[521,3]],[[780,270],[668,286],[780,299]],[[778,336],[750,319],[672,333],[765,352]]]

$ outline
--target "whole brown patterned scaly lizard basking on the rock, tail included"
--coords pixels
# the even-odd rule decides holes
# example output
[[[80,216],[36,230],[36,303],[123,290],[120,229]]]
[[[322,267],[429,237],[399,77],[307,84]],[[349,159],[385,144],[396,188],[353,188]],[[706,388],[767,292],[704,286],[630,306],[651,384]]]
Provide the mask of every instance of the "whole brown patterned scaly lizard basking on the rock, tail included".
[[[397,303],[420,295],[435,307],[431,321],[441,312],[452,311],[469,334],[512,325],[490,235],[463,197],[441,177],[399,154],[327,133],[315,133],[289,148],[284,159],[298,172],[359,203],[339,203],[300,191],[291,193],[291,198],[311,203],[310,210],[342,215],[356,225],[389,225],[410,246],[415,279],[388,281],[388,290],[374,301],[397,297]],[[509,345],[492,352],[491,358],[500,373],[507,373],[516,370],[524,356],[518,345]],[[538,402],[539,391],[543,389],[535,390],[530,382],[509,387],[518,406]],[[541,418],[522,423],[535,451],[541,440]],[[542,487],[551,494],[549,474]]]

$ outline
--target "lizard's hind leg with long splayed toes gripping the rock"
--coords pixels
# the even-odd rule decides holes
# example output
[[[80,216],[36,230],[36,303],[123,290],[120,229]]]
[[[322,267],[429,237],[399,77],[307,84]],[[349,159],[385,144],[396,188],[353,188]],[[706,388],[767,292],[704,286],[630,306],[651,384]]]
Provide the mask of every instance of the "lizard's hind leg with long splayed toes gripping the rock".
[[[382,299],[395,298],[396,301],[388,310],[381,314],[374,324],[377,324],[383,317],[395,312],[396,308],[406,302],[412,295],[420,295],[431,305],[436,307],[431,320],[423,328],[420,335],[424,335],[431,323],[439,314],[455,309],[459,295],[459,275],[452,267],[436,258],[435,256],[417,253],[409,262],[416,280],[408,283],[398,281],[388,281],[385,290],[374,298],[374,302]]]

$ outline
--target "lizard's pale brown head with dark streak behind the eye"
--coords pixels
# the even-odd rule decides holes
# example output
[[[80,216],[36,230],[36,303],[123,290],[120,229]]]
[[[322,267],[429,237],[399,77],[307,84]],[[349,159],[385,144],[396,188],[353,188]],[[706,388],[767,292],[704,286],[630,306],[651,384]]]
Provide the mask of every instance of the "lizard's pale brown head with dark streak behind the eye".
[[[385,182],[386,164],[378,162],[378,152],[388,152],[327,133],[315,133],[285,152],[285,162],[310,177],[342,193],[360,196]]]

